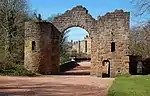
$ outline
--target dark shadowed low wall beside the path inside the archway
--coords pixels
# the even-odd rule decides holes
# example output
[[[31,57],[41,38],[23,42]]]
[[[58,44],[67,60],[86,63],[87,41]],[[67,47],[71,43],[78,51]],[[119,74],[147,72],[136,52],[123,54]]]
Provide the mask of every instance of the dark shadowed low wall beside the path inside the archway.
[[[62,65],[60,65],[60,72],[72,70],[73,68],[77,66],[80,66],[80,65],[77,64],[77,62],[75,61],[69,61],[69,62],[63,63]]]

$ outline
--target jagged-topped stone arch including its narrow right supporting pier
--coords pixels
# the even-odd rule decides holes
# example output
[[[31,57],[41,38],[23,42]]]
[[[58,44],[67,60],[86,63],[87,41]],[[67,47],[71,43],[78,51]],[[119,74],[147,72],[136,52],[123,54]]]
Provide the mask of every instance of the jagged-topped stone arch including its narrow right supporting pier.
[[[60,31],[64,32],[70,27],[81,27],[89,33],[91,40],[91,75],[95,74],[95,65],[98,63],[98,46],[97,46],[97,21],[88,13],[88,10],[82,6],[76,6],[67,10],[64,14],[57,16],[52,22]]]

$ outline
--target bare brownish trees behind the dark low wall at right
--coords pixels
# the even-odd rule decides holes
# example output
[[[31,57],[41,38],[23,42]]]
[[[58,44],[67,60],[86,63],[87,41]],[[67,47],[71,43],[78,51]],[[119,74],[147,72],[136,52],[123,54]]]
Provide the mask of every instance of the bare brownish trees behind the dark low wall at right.
[[[150,23],[131,29],[130,52],[132,55],[150,57]]]

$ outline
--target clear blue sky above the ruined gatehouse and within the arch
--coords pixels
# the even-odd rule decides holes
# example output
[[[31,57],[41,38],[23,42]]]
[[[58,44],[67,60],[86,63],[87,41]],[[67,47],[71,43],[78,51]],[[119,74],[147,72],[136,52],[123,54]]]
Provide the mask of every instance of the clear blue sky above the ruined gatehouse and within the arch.
[[[105,15],[107,12],[112,12],[115,9],[123,9],[131,11],[132,5],[130,0],[28,0],[30,8],[36,10],[42,15],[43,19],[47,19],[53,14],[64,13],[77,5],[82,5],[87,8],[88,12],[95,18]],[[134,19],[131,16],[131,24],[134,24]],[[81,40],[86,34],[84,29],[71,28],[68,34],[69,40]]]

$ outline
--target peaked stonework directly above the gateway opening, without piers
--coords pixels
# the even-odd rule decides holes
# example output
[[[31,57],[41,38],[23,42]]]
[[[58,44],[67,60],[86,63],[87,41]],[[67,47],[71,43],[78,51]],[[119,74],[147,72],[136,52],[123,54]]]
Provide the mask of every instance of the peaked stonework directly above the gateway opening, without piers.
[[[88,13],[85,7],[77,6],[55,17],[52,24],[60,32],[64,32],[71,27],[80,27],[85,29],[91,36],[95,31],[96,20]]]

